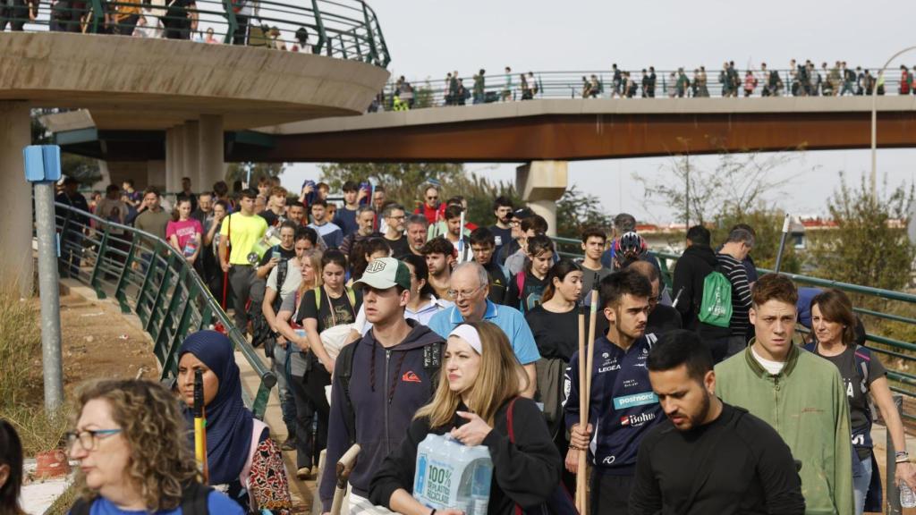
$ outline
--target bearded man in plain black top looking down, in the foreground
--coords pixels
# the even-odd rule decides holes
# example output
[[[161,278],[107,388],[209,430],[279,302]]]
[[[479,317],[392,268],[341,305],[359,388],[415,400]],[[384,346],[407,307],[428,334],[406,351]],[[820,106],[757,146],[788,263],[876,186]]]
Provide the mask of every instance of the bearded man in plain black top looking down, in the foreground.
[[[715,396],[713,355],[697,334],[666,334],[646,367],[668,420],[639,444],[630,515],[805,512],[789,446],[767,422]]]

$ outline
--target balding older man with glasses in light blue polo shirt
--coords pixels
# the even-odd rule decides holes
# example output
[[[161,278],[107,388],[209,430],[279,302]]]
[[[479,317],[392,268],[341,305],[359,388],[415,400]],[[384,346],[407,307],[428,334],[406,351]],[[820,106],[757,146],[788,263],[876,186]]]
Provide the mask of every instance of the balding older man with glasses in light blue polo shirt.
[[[490,291],[489,275],[476,261],[466,261],[455,267],[449,284],[449,293],[455,303],[432,316],[430,329],[447,338],[459,323],[465,321],[485,320],[496,323],[508,336],[518,363],[521,363],[528,374],[528,387],[522,395],[533,399],[537,386],[534,364],[540,359],[540,353],[538,345],[534,343],[531,328],[525,322],[525,316],[515,308],[496,305],[486,298]]]

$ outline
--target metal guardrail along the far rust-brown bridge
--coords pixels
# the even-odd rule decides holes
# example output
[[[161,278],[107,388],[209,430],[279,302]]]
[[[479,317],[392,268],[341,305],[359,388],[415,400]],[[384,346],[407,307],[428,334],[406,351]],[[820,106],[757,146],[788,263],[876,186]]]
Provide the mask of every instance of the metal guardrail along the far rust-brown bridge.
[[[864,69],[877,73],[879,68]],[[831,79],[831,69],[827,71],[818,68],[816,73],[820,75],[822,81],[817,82],[817,75],[812,75],[813,81],[800,81],[797,74],[791,73],[790,70],[776,70],[779,76],[779,82],[769,87],[769,76],[765,79],[761,71],[753,70],[752,74],[757,79],[757,85],[752,90],[751,96],[761,96],[765,86],[769,95],[772,96],[832,96],[834,94],[863,94],[870,91],[863,80],[845,82],[842,79],[836,81]],[[583,98],[586,93],[586,84],[592,93],[589,98],[610,98],[617,94],[620,96],[646,97],[654,98],[675,98],[675,97],[723,97],[734,91],[735,96],[745,96],[745,71],[739,71],[739,84],[737,89],[726,89],[725,85],[719,80],[719,71],[707,71],[705,81],[696,81],[694,72],[685,70],[685,81],[678,81],[677,71],[664,70],[655,71],[655,86],[651,92],[644,90],[642,86],[642,71],[634,70],[630,72],[632,86],[627,91],[627,83],[622,82],[617,86],[614,81],[614,73],[608,70],[602,71],[534,71],[533,79],[528,79],[528,85],[532,98]],[[767,71],[769,73],[769,71]],[[457,104],[489,104],[493,102],[518,101],[526,98],[526,92],[521,85],[521,73],[513,72],[507,75],[504,72],[497,72],[491,75],[484,75],[485,82],[483,94],[480,91],[474,93],[474,75],[459,77],[463,82],[463,89],[466,93],[454,95],[453,88],[444,79],[442,80],[419,80],[409,82],[412,87],[412,95],[408,95],[409,102],[405,101],[404,94],[400,93],[398,100],[395,100],[395,93],[398,93],[399,83],[397,79],[388,82],[385,88],[386,101],[379,107],[385,110],[398,110],[408,108],[438,107],[442,105]],[[525,72],[528,76],[528,72]],[[594,82],[592,77],[594,76]],[[870,80],[875,81],[875,77]],[[590,83],[591,82],[591,83]],[[627,93],[632,93],[627,95]],[[878,94],[900,94],[900,70],[885,71],[884,82],[878,84]]]

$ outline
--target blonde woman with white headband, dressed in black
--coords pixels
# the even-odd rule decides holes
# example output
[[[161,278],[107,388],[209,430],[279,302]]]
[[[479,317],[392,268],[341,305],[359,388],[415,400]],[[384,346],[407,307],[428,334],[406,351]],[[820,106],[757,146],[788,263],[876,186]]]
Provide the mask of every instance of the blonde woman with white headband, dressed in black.
[[[400,447],[372,480],[369,499],[405,515],[458,515],[430,510],[411,495],[417,446],[427,434],[451,433],[465,445],[486,445],[493,460],[487,515],[544,503],[560,483],[562,462],[537,404],[518,397],[525,374],[506,334],[489,322],[463,323],[449,334],[442,377]],[[512,436],[509,436],[509,417]]]

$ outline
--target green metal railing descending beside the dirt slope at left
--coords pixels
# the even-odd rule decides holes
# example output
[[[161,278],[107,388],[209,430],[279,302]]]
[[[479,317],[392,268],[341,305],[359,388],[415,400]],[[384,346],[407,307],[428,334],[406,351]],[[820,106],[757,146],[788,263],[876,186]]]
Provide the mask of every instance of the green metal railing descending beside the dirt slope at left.
[[[57,203],[56,208],[61,277],[79,280],[100,299],[114,298],[122,312],[139,317],[153,339],[161,378],[177,376],[176,354],[185,336],[222,324],[260,379],[255,399],[245,403],[263,419],[277,377],[181,253],[161,238],[134,227],[66,204]]]

